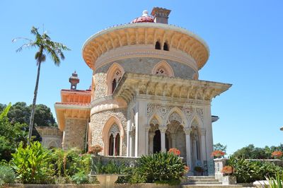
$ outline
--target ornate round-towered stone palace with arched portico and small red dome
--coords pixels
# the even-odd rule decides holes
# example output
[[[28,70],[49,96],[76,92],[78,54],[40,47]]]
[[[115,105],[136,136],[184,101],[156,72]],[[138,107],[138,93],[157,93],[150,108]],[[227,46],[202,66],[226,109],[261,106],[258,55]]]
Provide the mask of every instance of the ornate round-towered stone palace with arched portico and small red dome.
[[[45,146],[103,146],[100,155],[138,157],[178,148],[193,168],[213,151],[212,98],[231,84],[200,81],[209,47],[168,24],[171,11],[155,7],[131,23],[89,37],[82,56],[93,70],[88,90],[61,90],[59,130],[41,129]],[[54,134],[52,134],[52,131]],[[51,144],[51,145],[50,145]]]

